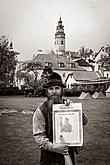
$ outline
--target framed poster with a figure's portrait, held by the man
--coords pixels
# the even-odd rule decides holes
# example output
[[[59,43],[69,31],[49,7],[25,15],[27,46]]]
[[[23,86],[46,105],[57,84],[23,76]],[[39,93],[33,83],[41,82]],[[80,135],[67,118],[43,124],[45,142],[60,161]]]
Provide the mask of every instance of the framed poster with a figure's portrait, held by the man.
[[[82,103],[53,105],[53,142],[83,145]]]

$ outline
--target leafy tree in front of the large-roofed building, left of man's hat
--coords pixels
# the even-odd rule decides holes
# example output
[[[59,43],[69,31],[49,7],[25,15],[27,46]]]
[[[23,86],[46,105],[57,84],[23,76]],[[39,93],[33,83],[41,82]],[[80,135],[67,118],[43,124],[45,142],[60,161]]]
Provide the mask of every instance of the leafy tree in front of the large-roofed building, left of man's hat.
[[[38,79],[38,69],[41,64],[38,62],[28,62],[23,70],[17,72],[17,78],[24,80],[26,88],[33,88],[35,93],[42,93],[44,91],[44,85],[46,84],[49,75],[53,72],[51,67],[45,66],[42,72],[41,78]]]

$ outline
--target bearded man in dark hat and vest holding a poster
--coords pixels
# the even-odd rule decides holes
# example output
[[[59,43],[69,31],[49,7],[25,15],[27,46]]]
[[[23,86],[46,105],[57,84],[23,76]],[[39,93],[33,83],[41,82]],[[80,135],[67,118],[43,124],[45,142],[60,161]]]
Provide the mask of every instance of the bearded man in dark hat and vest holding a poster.
[[[68,153],[73,165],[75,165],[75,148],[68,147],[63,143],[53,143],[52,105],[64,103],[62,96],[65,87],[61,76],[53,72],[45,85],[47,100],[38,106],[33,115],[33,134],[36,144],[41,149],[40,165],[65,165],[64,154]],[[86,124],[85,115],[83,115],[83,118],[83,122]]]

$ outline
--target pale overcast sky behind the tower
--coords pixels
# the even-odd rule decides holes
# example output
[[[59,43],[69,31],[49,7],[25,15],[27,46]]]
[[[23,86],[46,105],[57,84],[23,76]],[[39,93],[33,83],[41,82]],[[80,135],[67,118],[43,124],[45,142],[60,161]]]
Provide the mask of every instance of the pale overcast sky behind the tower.
[[[0,0],[0,35],[12,40],[19,60],[30,60],[38,50],[55,50],[60,15],[66,50],[110,44],[110,0]]]

